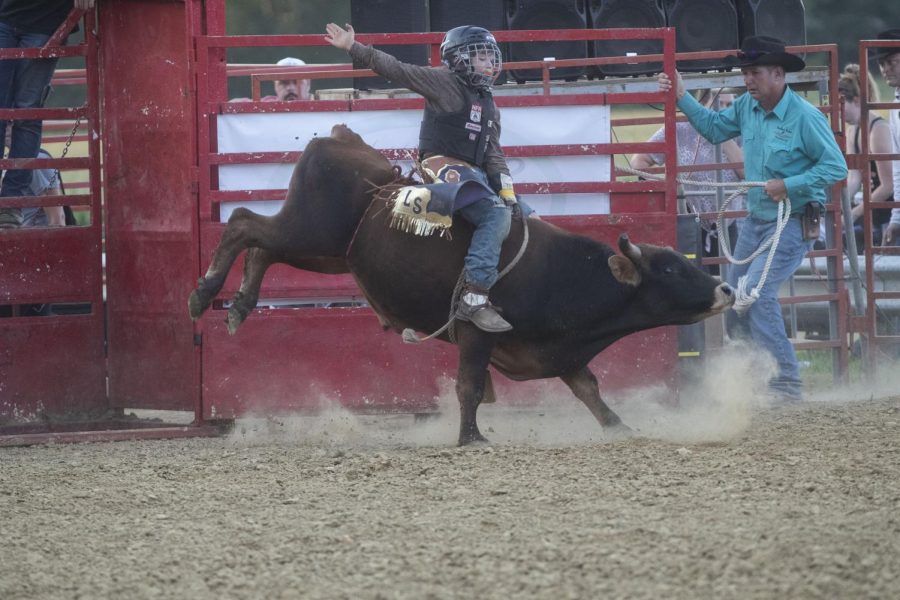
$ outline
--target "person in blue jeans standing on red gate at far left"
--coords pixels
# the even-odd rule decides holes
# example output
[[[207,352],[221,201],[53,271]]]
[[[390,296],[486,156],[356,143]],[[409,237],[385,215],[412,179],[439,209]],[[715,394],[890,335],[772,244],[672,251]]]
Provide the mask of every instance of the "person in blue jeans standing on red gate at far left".
[[[0,48],[40,48],[75,9],[88,10],[95,0],[0,0]],[[50,89],[57,59],[0,60],[0,108],[40,108]],[[41,144],[42,122],[15,120],[9,158],[35,158]],[[5,121],[0,122],[0,140],[6,145]],[[0,156],[5,148],[0,147]],[[9,169],[0,185],[0,196],[26,196],[32,182],[31,169]],[[22,211],[0,208],[0,229],[22,225]]]

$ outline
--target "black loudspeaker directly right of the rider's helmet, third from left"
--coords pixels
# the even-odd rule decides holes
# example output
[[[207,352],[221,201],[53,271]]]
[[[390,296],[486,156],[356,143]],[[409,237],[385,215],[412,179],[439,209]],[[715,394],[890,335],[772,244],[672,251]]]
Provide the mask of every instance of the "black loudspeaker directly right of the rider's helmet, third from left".
[[[488,2],[489,0],[485,0]],[[512,0],[506,7],[507,29],[586,29],[584,0]],[[509,61],[543,60],[553,57],[587,58],[588,44],[580,42],[510,43]],[[584,67],[566,67],[550,71],[551,79],[574,80],[584,75]],[[517,82],[540,81],[540,69],[518,69],[510,72]]]

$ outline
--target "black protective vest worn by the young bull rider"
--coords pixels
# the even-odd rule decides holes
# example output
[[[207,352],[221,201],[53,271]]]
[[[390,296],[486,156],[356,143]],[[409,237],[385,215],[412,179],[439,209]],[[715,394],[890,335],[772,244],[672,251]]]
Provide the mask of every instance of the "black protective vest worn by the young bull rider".
[[[497,122],[497,106],[489,91],[462,85],[462,110],[438,112],[425,107],[419,129],[419,156],[452,156],[483,168],[484,154]]]

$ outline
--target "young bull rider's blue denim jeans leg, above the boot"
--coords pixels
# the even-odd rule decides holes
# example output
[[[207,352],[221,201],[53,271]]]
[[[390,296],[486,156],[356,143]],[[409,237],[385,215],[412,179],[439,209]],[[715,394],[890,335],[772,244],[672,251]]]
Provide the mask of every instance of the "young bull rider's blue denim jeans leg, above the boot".
[[[500,246],[509,235],[512,209],[499,196],[489,196],[459,209],[457,214],[475,226],[466,254],[466,283],[489,290],[497,281]]]

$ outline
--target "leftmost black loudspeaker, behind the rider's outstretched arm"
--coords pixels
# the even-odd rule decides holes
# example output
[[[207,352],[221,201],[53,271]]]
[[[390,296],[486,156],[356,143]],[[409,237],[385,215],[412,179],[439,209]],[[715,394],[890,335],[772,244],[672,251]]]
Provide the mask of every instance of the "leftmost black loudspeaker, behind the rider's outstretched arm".
[[[357,33],[422,33],[428,31],[428,0],[352,0],[350,22]],[[428,46],[375,47],[405,63],[428,64]],[[353,86],[361,90],[397,87],[381,77],[358,77]]]

